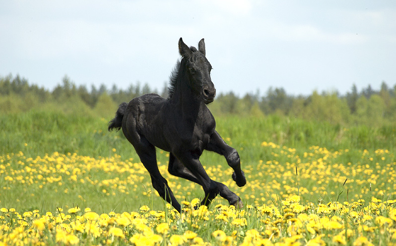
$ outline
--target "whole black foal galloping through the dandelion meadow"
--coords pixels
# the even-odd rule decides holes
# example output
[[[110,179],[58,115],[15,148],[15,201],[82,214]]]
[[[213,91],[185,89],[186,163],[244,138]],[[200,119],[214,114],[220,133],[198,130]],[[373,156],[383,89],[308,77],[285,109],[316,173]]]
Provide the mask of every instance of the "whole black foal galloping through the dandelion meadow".
[[[202,205],[208,206],[220,194],[230,204],[242,207],[241,198],[225,184],[211,180],[199,162],[204,149],[221,154],[234,169],[232,178],[236,184],[246,184],[238,152],[215,131],[216,123],[205,105],[213,102],[216,94],[205,43],[200,40],[197,50],[180,38],[179,53],[182,60],[171,75],[168,99],[146,94],[121,104],[116,117],[109,122],[109,131],[123,129],[150,173],[153,187],[179,212],[180,204],[158,170],[155,146],[170,152],[170,174],[202,185],[205,192]]]

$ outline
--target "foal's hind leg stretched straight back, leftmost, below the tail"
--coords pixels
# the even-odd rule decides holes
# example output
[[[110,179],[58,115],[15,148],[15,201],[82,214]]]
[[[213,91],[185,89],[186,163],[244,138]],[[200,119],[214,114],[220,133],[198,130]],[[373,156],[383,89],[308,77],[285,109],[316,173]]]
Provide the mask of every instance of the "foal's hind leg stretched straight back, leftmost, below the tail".
[[[140,157],[140,161],[143,163],[143,166],[150,173],[151,183],[153,187],[158,191],[158,194],[167,202],[172,204],[172,206],[181,212],[181,206],[179,202],[176,200],[171,188],[168,185],[168,182],[162,177],[161,173],[158,170],[157,166],[157,158],[155,154],[155,147],[151,143],[149,143],[145,138],[140,138],[139,145],[133,145],[135,147],[136,153]]]

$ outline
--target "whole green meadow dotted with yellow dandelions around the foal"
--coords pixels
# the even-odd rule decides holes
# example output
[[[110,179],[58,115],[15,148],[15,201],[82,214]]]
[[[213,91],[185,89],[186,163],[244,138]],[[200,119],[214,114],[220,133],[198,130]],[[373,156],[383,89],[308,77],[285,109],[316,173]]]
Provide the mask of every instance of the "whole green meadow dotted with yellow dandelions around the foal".
[[[163,176],[184,212],[158,197],[109,119],[31,111],[0,116],[0,245],[396,244],[395,126],[341,126],[267,116],[217,118],[248,183],[204,152],[208,175],[246,205],[216,198],[191,209],[200,186]]]

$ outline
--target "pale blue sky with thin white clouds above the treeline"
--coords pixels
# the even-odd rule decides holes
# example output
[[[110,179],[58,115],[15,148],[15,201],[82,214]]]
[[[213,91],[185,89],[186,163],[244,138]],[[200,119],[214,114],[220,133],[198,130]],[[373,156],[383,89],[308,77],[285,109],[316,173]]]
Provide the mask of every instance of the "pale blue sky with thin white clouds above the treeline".
[[[53,90],[77,86],[159,92],[180,37],[205,39],[217,93],[290,95],[355,84],[396,85],[396,1],[2,0],[0,76]]]

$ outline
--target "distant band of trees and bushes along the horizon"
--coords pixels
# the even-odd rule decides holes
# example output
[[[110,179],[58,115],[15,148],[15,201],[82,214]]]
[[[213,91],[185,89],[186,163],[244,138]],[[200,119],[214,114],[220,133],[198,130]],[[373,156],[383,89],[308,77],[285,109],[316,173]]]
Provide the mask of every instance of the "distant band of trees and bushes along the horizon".
[[[161,92],[148,84],[131,84],[126,90],[117,85],[105,85],[88,89],[76,86],[68,76],[53,91],[29,84],[19,75],[0,77],[0,112],[18,113],[34,109],[61,110],[65,113],[87,114],[100,117],[114,115],[117,105],[132,98],[154,92],[167,98],[167,85]],[[238,97],[233,92],[221,93],[209,105],[214,116],[236,114],[264,117],[276,114],[333,124],[366,124],[368,126],[396,124],[396,84],[391,87],[385,81],[380,90],[370,85],[361,91],[356,85],[345,95],[338,92],[314,91],[309,96],[287,95],[284,88],[270,87],[264,95],[248,93]]]

